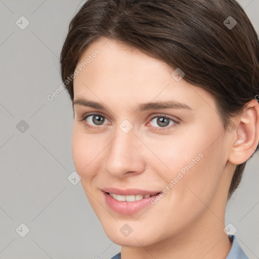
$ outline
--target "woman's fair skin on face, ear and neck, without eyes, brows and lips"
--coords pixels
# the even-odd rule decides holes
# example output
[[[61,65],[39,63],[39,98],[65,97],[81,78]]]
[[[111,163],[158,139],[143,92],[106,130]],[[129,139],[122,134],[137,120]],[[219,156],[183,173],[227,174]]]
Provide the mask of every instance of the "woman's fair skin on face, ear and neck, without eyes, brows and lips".
[[[259,141],[258,102],[252,100],[253,108],[234,118],[236,128],[224,132],[213,96],[184,78],[175,80],[175,69],[106,38],[91,44],[78,64],[96,49],[100,54],[74,78],[74,100],[106,109],[74,106],[72,153],[106,235],[121,246],[122,259],[226,258],[232,245],[223,232],[227,194],[236,164],[246,161]],[[133,110],[167,100],[191,109]],[[102,125],[95,116],[79,121],[90,112],[105,117]],[[163,115],[180,123],[163,127],[157,122]],[[125,119],[133,125],[128,133],[119,127]],[[157,204],[131,215],[106,204],[102,188],[162,191],[199,153],[203,157]],[[133,229],[128,236],[120,232],[124,224]]]

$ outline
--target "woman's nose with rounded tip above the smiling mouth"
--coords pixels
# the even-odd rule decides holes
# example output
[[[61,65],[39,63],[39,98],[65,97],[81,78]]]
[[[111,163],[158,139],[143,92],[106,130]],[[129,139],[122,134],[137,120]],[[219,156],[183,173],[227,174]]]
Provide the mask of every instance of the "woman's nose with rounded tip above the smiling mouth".
[[[118,128],[106,152],[105,169],[112,176],[123,178],[141,174],[145,170],[144,153],[147,150],[134,130],[124,133]]]

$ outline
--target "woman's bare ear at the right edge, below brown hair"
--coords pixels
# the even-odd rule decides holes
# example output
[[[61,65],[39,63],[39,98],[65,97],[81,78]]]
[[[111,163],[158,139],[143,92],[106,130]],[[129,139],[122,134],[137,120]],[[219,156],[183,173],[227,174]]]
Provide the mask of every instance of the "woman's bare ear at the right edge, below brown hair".
[[[259,142],[259,103],[253,99],[236,117],[236,128],[231,133],[233,141],[229,153],[229,161],[241,164],[248,160],[254,153]]]

